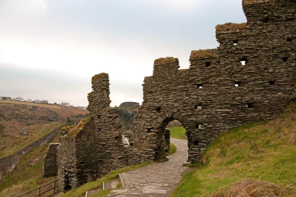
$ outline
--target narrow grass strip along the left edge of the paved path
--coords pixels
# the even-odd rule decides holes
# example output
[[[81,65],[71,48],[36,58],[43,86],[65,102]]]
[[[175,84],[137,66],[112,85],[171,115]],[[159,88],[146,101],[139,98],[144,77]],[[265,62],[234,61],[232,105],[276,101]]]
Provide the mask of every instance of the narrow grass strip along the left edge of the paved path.
[[[94,181],[94,182],[88,182],[82,186],[80,186],[79,188],[73,188],[72,190],[66,192],[64,195],[60,195],[63,197],[79,197],[79,196],[84,196],[84,194],[86,193],[86,191],[89,190],[97,190],[97,189],[102,189],[103,187],[103,182],[108,182],[111,179],[114,179],[116,177],[118,177],[118,174],[126,172],[126,171],[130,171],[133,169],[137,169],[143,166],[146,166],[148,164],[150,164],[151,162],[144,162],[135,166],[127,166],[124,167],[122,169],[118,169],[118,170],[113,170],[111,171],[109,174],[107,174],[106,176]],[[103,192],[103,191],[102,191]],[[97,195],[99,195],[100,193],[98,193]]]

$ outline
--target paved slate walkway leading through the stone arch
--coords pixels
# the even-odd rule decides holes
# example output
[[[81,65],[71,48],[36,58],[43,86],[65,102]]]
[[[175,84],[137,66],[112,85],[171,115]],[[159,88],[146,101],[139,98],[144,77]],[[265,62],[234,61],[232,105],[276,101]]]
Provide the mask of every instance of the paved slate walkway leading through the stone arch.
[[[112,190],[108,196],[170,196],[182,178],[181,173],[188,169],[182,166],[188,158],[187,140],[171,138],[170,142],[177,151],[168,156],[168,161],[122,173],[124,188]]]

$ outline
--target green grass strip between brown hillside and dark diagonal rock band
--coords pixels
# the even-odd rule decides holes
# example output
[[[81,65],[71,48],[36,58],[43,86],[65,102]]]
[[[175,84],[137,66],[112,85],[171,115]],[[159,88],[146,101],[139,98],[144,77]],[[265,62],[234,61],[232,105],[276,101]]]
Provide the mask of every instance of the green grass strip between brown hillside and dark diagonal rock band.
[[[28,145],[32,144],[38,139],[46,136],[47,134],[51,133],[54,129],[59,128],[64,124],[65,122],[53,122],[44,125],[29,126],[27,127],[27,131],[29,133],[28,136],[17,136],[17,139],[9,145],[7,144],[7,142],[5,142],[11,142],[7,139],[9,137],[1,138],[0,144],[2,144],[3,141],[3,144],[6,144],[7,147],[4,150],[0,151],[0,159],[17,153],[18,151],[22,150],[23,148],[27,147]]]

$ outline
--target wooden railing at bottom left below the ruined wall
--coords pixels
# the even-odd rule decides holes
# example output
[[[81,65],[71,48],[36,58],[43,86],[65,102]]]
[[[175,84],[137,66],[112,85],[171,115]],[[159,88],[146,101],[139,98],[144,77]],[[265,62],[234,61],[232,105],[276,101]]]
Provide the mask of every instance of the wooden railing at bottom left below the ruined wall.
[[[55,193],[57,193],[57,180],[54,180],[52,182],[46,183],[44,185],[41,185],[37,188],[34,188],[33,190],[27,191],[25,193],[19,194],[15,197],[43,197],[43,196],[52,196]],[[52,193],[49,191],[53,190]]]

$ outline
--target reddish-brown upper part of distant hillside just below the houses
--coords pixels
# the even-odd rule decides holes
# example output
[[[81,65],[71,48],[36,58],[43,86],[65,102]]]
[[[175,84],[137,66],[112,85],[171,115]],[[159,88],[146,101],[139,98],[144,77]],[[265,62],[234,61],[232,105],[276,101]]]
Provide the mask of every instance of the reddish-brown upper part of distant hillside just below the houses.
[[[26,126],[63,122],[67,115],[86,113],[89,112],[74,107],[0,100],[0,135],[14,138]]]

